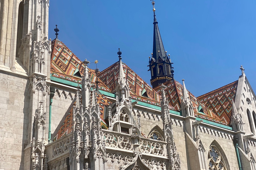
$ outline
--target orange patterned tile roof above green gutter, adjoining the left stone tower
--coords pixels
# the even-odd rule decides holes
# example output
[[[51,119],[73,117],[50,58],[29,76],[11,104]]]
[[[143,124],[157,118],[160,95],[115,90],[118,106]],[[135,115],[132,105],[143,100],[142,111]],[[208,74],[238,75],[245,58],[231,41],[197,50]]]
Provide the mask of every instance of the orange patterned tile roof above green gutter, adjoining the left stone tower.
[[[61,41],[53,40],[51,54],[51,69],[53,77],[61,78],[77,84],[81,84],[81,77],[75,76],[75,70],[78,68],[81,75],[84,72],[83,62]],[[96,76],[94,70],[89,69],[91,73],[91,82],[95,83]],[[99,90],[110,92],[109,89],[99,80]]]

